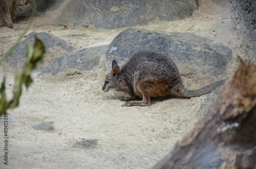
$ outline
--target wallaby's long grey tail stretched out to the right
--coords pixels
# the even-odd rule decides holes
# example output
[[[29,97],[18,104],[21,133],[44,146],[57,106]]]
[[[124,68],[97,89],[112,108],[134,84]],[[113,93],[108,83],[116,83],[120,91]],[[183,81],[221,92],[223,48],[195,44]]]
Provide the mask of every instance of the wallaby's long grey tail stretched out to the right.
[[[185,98],[196,97],[196,96],[200,96],[200,95],[211,92],[212,90],[216,89],[218,86],[222,85],[225,81],[226,79],[209,84],[207,86],[204,86],[196,90],[187,90],[184,86],[182,86],[178,90],[176,90],[176,92]]]

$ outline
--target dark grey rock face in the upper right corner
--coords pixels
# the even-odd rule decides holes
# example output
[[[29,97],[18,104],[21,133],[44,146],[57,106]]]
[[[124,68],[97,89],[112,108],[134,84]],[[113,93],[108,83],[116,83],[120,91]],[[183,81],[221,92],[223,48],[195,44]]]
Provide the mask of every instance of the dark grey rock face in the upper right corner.
[[[245,59],[256,64],[256,1],[228,0],[233,27],[237,30]]]

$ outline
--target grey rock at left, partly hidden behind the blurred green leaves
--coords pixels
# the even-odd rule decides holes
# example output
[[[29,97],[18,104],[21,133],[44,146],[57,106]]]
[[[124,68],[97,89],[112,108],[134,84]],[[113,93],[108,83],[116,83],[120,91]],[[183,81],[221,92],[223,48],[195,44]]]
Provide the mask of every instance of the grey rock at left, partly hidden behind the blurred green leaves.
[[[64,53],[70,53],[77,50],[76,47],[70,45],[65,40],[60,39],[52,34],[45,32],[30,34],[25,40],[19,42],[13,53],[6,59],[4,64],[7,69],[22,69],[26,60],[28,44],[34,44],[35,35],[44,40],[47,52],[54,53],[55,57],[58,57]]]

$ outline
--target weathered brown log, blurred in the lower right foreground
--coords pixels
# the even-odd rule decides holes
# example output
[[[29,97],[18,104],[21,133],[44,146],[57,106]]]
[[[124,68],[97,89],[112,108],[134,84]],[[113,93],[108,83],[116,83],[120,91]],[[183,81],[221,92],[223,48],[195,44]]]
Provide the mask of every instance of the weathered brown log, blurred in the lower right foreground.
[[[194,129],[153,169],[256,168],[256,66],[241,60]]]

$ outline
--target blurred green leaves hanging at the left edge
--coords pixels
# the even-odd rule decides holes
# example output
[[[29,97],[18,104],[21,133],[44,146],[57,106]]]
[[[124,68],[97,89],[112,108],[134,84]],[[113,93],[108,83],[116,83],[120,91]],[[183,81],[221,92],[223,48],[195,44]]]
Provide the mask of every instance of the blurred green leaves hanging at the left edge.
[[[45,43],[35,36],[34,46],[29,45],[28,52],[26,55],[26,61],[22,69],[22,73],[16,72],[15,82],[13,88],[13,98],[11,101],[7,101],[5,94],[5,80],[2,82],[0,88],[0,115],[5,114],[6,110],[9,108],[17,107],[19,104],[19,97],[22,94],[22,84],[24,83],[26,87],[29,87],[33,82],[31,78],[31,70],[36,68],[37,64],[42,62],[44,54],[46,52]]]

